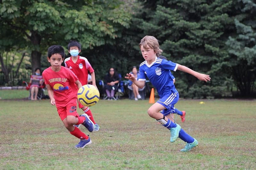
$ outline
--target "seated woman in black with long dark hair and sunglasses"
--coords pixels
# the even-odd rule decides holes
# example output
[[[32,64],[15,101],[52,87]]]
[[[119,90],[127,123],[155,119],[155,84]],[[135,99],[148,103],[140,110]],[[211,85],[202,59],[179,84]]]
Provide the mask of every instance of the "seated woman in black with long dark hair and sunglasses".
[[[108,96],[108,100],[115,100],[114,95],[118,89],[118,83],[120,82],[120,77],[114,68],[110,68],[108,74],[104,78],[104,89]]]

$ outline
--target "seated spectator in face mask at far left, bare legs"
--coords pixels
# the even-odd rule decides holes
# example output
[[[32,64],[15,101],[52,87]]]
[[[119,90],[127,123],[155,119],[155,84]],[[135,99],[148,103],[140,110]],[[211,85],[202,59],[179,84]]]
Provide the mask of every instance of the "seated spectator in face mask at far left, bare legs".
[[[37,94],[40,85],[43,84],[43,76],[41,75],[41,70],[39,68],[36,68],[35,75],[30,76],[30,94],[31,94],[31,100],[37,100]]]

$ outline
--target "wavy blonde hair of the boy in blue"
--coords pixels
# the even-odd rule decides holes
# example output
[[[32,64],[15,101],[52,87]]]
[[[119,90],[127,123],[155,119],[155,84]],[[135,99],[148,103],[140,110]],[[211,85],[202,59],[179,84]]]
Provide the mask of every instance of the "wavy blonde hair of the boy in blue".
[[[143,37],[143,39],[141,39],[139,44],[139,47],[141,46],[144,49],[152,48],[156,53],[157,57],[163,52],[163,50],[159,48],[158,40],[153,36],[146,35],[145,37]]]

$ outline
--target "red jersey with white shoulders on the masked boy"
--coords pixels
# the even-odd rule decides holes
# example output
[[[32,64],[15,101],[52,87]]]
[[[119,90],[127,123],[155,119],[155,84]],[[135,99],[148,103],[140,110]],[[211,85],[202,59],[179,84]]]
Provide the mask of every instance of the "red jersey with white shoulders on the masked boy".
[[[66,58],[64,61],[65,67],[69,68],[75,73],[75,75],[77,75],[82,85],[87,85],[88,71],[91,73],[94,70],[91,64],[88,62],[87,58],[81,57],[79,55],[77,57],[78,59],[76,63],[72,61],[71,57]]]

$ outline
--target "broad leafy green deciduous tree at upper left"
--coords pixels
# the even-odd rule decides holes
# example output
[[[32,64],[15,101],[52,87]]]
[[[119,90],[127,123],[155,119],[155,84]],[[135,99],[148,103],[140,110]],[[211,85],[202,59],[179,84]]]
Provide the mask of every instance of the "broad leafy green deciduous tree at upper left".
[[[54,44],[67,46],[77,40],[83,49],[108,44],[129,26],[131,15],[121,1],[3,0],[0,4],[0,50],[25,45],[31,51],[32,71],[41,67],[40,58]],[[19,36],[17,36],[19,35]],[[18,37],[18,41],[17,38]],[[8,39],[6,44],[4,39]]]

